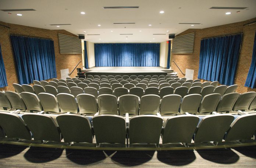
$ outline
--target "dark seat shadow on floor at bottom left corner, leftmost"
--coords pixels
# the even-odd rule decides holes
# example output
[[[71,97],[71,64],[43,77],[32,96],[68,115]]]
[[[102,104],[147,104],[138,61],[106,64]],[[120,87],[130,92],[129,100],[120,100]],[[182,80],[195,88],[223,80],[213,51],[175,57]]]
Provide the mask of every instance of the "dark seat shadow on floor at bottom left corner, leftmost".
[[[15,156],[28,148],[21,145],[0,144],[0,158]]]

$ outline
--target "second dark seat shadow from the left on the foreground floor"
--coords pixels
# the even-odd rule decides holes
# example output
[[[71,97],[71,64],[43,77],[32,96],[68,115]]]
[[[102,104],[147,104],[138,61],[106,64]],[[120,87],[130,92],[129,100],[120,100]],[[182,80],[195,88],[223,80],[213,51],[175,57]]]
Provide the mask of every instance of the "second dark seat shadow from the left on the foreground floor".
[[[59,158],[62,155],[63,149],[59,148],[42,148],[31,146],[24,154],[26,160],[32,163],[46,163]]]

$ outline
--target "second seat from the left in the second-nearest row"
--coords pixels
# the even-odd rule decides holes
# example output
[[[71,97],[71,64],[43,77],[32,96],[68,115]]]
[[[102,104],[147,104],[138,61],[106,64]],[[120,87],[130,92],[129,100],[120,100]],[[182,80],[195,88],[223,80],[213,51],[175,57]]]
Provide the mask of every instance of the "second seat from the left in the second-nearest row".
[[[10,101],[11,107],[13,109],[26,110],[26,105],[25,105],[23,99],[21,98],[20,94],[18,94],[16,92],[12,92],[12,91],[6,91],[5,94],[8,98],[8,100]],[[2,100],[0,100],[0,101],[3,103]]]

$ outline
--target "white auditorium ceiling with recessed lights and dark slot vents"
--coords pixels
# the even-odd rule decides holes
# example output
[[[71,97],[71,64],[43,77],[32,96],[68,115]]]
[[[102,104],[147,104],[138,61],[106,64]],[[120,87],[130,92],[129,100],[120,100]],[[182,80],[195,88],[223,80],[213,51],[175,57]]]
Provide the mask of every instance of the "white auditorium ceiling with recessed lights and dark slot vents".
[[[110,6],[139,8],[103,8]],[[224,10],[210,7],[248,8]],[[168,34],[179,34],[186,29],[202,29],[256,17],[256,0],[0,0],[0,10],[29,8],[36,11],[12,14],[0,11],[0,21],[51,30],[65,29],[74,34],[85,34],[85,40],[91,42],[162,42],[168,40]],[[82,11],[85,15],[80,14]],[[159,11],[164,11],[164,14]],[[225,12],[232,14],[225,15]],[[18,13],[22,16],[17,16]],[[135,24],[113,24],[124,22]],[[191,26],[178,23],[201,24]],[[71,25],[56,27],[50,24]],[[100,27],[97,26],[99,24]],[[166,35],[153,35],[159,33]]]

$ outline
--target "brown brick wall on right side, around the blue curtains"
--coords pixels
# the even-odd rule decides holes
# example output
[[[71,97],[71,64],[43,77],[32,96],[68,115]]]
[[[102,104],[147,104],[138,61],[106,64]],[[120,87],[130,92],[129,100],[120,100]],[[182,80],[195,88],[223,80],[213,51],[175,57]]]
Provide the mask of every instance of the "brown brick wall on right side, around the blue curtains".
[[[256,21],[256,18],[246,20],[238,23],[231,23],[227,25],[214,26],[205,29],[188,29],[177,36],[195,33],[195,43],[194,51],[192,54],[172,54],[172,60],[174,60],[183,72],[186,68],[194,70],[194,79],[198,78],[198,68],[199,68],[199,53],[200,53],[200,41],[202,38],[221,36],[224,34],[232,34],[243,32],[242,37],[242,51],[239,55],[237,73],[235,76],[235,84],[238,85],[237,92],[244,93],[254,91],[256,89],[245,87],[245,80],[250,68],[252,61],[252,51],[253,43],[256,31],[256,24],[250,26],[243,26],[246,23]],[[171,68],[178,72],[179,77],[184,77],[181,72],[178,70],[177,66],[172,62]]]

